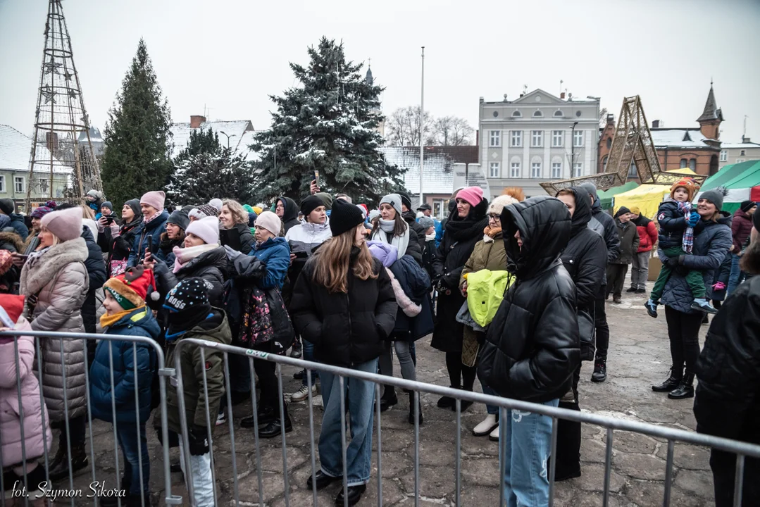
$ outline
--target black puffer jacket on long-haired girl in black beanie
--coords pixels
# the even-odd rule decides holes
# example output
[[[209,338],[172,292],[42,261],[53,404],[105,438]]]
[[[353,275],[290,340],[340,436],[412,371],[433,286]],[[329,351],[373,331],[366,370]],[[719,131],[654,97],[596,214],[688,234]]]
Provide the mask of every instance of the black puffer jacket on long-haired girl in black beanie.
[[[375,259],[375,280],[359,280],[353,263],[359,249],[352,249],[348,293],[331,293],[312,281],[317,252],[306,262],[290,301],[296,333],[314,344],[319,363],[351,367],[380,356],[383,341],[393,331],[398,306],[391,278]]]

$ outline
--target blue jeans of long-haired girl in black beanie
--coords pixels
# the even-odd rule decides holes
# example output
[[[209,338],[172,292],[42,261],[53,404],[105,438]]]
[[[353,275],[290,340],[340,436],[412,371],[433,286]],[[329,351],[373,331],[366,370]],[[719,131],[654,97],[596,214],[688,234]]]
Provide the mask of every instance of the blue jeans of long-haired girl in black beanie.
[[[306,344],[306,342],[304,342]],[[375,373],[378,360],[357,364],[353,369]],[[343,477],[343,445],[340,441],[340,381],[337,375],[322,371],[322,401],[325,415],[319,434],[319,464],[322,473],[330,477]],[[346,447],[348,486],[369,482],[372,470],[372,421],[375,412],[375,384],[365,380],[344,379],[344,396],[351,422],[351,441]],[[346,436],[348,439],[348,436]]]

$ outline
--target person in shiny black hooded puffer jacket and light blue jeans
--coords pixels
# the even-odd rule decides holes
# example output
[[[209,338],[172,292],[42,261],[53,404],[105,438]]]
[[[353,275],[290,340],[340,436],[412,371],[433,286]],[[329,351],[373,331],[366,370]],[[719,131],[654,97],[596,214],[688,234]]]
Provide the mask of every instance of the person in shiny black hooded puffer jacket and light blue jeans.
[[[556,198],[535,197],[505,208],[501,223],[518,282],[486,334],[480,376],[499,396],[557,407],[581,362],[575,284],[559,258],[572,218]],[[507,504],[549,505],[552,418],[506,412],[499,455]]]

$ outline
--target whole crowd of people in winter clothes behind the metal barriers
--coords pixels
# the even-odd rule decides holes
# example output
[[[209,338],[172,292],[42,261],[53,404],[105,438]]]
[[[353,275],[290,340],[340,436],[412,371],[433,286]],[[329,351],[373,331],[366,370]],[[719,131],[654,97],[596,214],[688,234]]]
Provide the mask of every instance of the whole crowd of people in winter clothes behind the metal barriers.
[[[458,189],[440,221],[429,204],[413,210],[404,194],[385,195],[370,209],[349,195],[321,192],[316,181],[300,203],[281,197],[256,206],[215,198],[175,208],[163,192],[147,192],[123,203],[120,216],[96,190],[86,204],[49,201],[28,217],[0,199],[2,328],[110,335],[87,345],[0,337],[0,404],[18,404],[17,384],[24,395],[23,441],[11,410],[0,419],[5,485],[14,477],[31,484],[46,476],[60,480],[89,466],[89,396],[91,416],[116,426],[128,505],[150,501],[146,426],[159,403],[156,353],[146,339],[163,347],[169,366],[181,365],[182,399],[169,386],[166,420],[169,445],[180,449],[173,469],[192,478],[197,505],[214,505],[208,442],[214,426],[233,417],[226,381],[236,405],[252,398],[254,379],[245,356],[230,354],[225,379],[222,353],[177,347],[186,338],[262,353],[290,350],[382,375],[393,375],[395,352],[401,375],[416,380],[415,342],[432,334],[432,347],[445,353],[451,388],[473,391],[478,379],[489,395],[581,410],[581,363],[594,364],[593,382],[607,378],[606,301],[612,295],[621,302],[631,264],[627,292],[646,292],[655,248],[663,269],[646,306],[652,317],[665,306],[672,366],[652,389],[673,399],[693,397],[697,375],[698,430],[758,442],[760,282],[752,274],[760,271],[760,220],[748,201],[732,223],[721,211],[720,190],[703,192],[692,204],[696,189],[689,178],[673,184],[657,213],[659,231],[637,208],[619,208],[614,216],[603,211],[588,184],[528,199],[511,188],[491,202],[479,187]],[[717,312],[726,290],[734,295],[714,318],[700,356],[703,317]],[[356,504],[371,471],[374,384],[355,378],[341,384],[317,368],[309,370],[311,379],[306,370],[297,372],[301,388],[280,398],[275,364],[258,357],[253,363],[258,406],[239,425],[259,438],[288,433],[287,401],[305,401],[319,386],[325,407],[319,468],[307,486],[340,480],[345,466],[347,490],[336,502],[342,505],[347,495]],[[342,396],[350,421],[345,464]],[[398,398],[385,386],[380,409]],[[736,403],[727,408],[729,401]],[[461,401],[461,410],[470,405]],[[457,410],[449,396],[437,406]],[[731,425],[715,420],[719,408],[733,410]],[[410,424],[424,422],[414,392],[408,409]],[[15,407],[14,414],[20,411]],[[546,505],[549,458],[556,480],[581,475],[580,423],[560,421],[550,457],[550,417],[508,410],[508,420],[499,421],[497,407],[486,412],[472,432],[500,442],[510,503]],[[161,418],[153,420],[163,439]],[[46,469],[51,429],[59,430],[58,445]],[[733,496],[730,460],[713,452],[717,505],[729,505]],[[756,473],[758,464],[748,459],[745,470]],[[745,498],[758,498],[755,483],[746,480],[745,487]],[[116,499],[100,503],[116,505]]]

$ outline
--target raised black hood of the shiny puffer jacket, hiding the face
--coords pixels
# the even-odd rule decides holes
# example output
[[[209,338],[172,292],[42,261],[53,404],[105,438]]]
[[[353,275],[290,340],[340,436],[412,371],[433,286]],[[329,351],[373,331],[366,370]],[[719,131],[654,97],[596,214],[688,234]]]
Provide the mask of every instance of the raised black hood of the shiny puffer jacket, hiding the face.
[[[534,197],[502,211],[502,230],[508,264],[518,280],[527,280],[559,261],[570,240],[572,219],[565,204],[551,197]],[[523,242],[518,247],[515,232]]]

